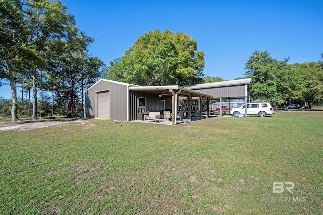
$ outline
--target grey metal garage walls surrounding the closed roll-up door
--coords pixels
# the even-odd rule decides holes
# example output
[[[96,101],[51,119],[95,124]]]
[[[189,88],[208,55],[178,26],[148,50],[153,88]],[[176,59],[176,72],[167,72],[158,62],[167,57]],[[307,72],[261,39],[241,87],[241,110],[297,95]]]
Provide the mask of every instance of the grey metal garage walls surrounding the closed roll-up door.
[[[97,93],[110,92],[110,119],[127,120],[127,90],[126,85],[101,80],[85,92],[85,116],[97,117]]]

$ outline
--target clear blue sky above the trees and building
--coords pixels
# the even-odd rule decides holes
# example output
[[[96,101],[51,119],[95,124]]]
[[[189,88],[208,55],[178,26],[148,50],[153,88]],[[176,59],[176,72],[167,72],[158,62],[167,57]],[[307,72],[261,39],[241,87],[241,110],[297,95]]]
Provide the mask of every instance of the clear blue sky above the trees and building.
[[[90,53],[107,65],[138,37],[165,29],[195,39],[204,74],[225,80],[244,77],[255,50],[290,64],[317,62],[323,53],[323,1],[61,1],[95,39]],[[8,86],[0,96],[10,97]]]

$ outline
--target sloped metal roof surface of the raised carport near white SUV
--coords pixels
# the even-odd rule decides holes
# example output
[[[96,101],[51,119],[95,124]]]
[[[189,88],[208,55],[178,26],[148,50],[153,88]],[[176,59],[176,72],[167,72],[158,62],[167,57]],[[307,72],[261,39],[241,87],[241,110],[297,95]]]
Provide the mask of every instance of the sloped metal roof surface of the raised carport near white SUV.
[[[248,85],[249,89],[252,89],[251,78],[244,78],[244,79],[231,80],[231,81],[213,82],[213,83],[206,83],[206,84],[195,84],[195,85],[188,86],[185,88],[195,90],[195,89],[237,86],[237,85],[245,85],[245,84]]]

